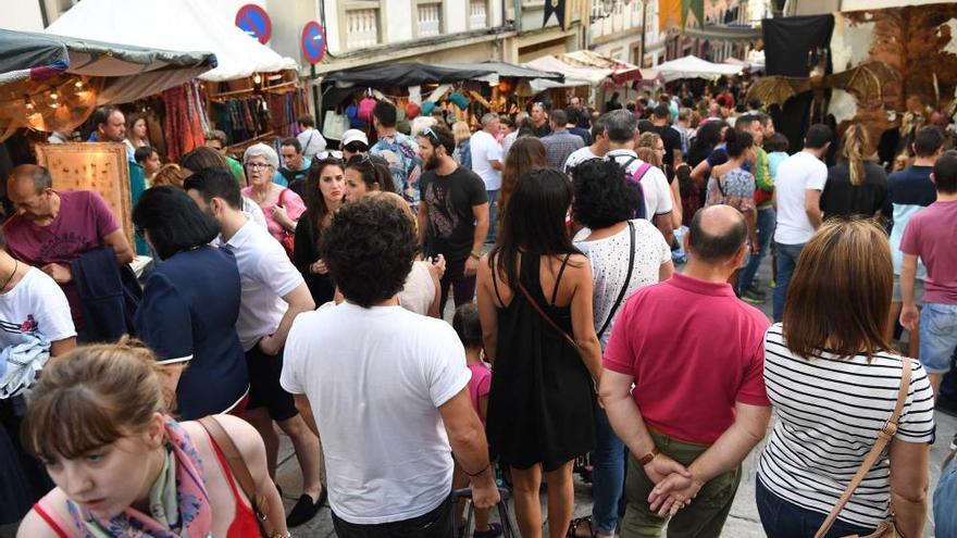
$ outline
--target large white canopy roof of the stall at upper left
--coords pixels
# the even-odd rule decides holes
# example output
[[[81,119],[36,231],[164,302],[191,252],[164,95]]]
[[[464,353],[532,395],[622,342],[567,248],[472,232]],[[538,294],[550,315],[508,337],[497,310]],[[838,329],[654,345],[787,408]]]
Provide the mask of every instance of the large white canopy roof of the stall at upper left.
[[[174,51],[210,51],[217,66],[199,78],[223,82],[297,70],[283,58],[234,26],[206,0],[83,0],[45,32],[119,45]]]

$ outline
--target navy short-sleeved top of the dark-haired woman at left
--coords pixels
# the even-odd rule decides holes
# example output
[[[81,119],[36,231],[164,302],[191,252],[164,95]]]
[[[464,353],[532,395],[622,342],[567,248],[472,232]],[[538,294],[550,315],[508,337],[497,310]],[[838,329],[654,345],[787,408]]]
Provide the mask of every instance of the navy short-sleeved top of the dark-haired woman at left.
[[[176,387],[176,413],[196,420],[222,413],[249,387],[236,335],[239,270],[215,247],[179,252],[147,278],[136,329],[160,363],[189,362]]]

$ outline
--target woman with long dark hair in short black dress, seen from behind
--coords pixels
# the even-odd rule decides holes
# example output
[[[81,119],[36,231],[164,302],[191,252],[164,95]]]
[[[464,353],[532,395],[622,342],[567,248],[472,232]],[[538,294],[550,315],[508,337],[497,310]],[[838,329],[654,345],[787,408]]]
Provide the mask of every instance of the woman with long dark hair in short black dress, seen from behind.
[[[601,349],[592,315],[592,270],[566,228],[571,201],[562,172],[538,168],[522,176],[498,242],[478,264],[478,314],[495,367],[488,442],[511,467],[525,538],[542,536],[543,472],[549,534],[566,535],[574,508],[574,458],[595,445]]]

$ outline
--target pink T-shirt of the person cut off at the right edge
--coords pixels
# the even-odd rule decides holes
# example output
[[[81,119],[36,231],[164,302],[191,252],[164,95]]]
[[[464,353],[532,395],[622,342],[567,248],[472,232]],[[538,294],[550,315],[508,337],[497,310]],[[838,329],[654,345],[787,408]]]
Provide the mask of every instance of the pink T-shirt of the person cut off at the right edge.
[[[934,202],[904,228],[900,251],[920,257],[928,268],[923,302],[957,304],[957,201]]]

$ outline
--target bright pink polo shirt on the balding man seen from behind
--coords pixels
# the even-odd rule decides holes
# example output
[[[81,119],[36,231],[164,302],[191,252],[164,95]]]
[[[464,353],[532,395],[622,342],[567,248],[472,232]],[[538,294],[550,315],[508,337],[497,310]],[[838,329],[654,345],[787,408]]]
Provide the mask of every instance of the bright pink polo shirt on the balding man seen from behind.
[[[770,322],[726,283],[678,273],[622,306],[604,366],[634,376],[645,422],[683,441],[712,443],[734,423],[734,404],[770,405],[765,331]]]

